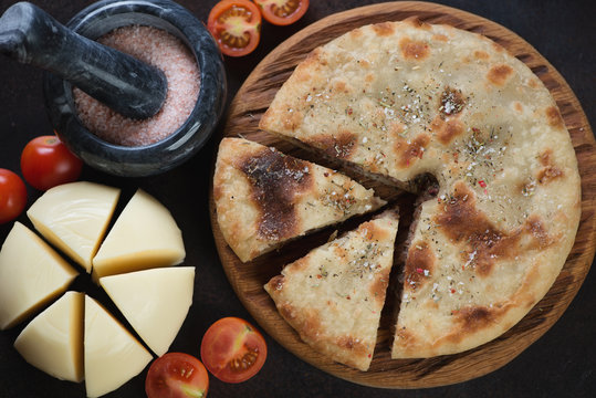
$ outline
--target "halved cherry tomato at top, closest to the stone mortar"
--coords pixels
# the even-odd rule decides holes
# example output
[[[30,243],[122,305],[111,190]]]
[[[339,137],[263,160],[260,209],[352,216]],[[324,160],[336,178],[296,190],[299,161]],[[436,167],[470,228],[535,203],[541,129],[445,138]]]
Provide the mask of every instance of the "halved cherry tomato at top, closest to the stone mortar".
[[[261,39],[261,13],[249,0],[223,0],[209,13],[207,29],[222,53],[242,56],[251,53]]]

